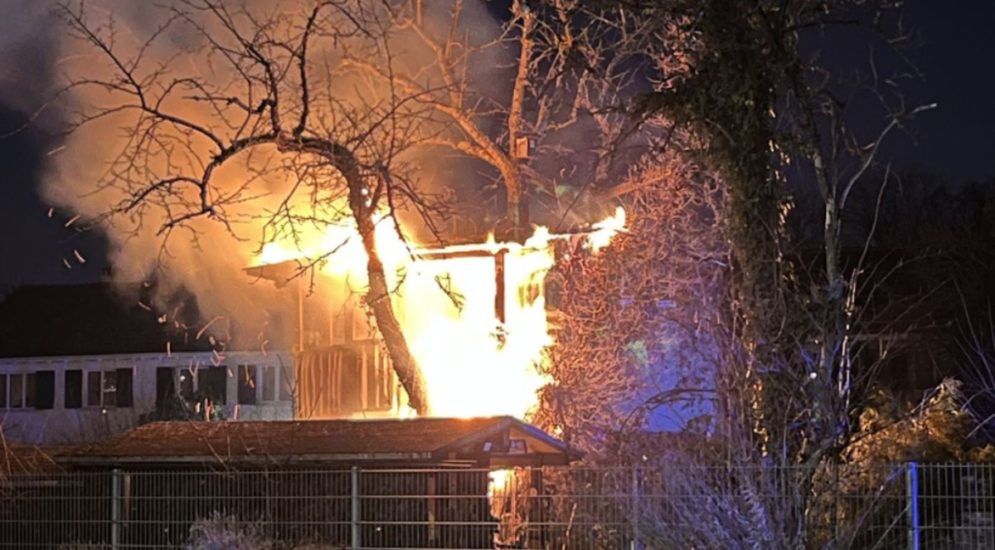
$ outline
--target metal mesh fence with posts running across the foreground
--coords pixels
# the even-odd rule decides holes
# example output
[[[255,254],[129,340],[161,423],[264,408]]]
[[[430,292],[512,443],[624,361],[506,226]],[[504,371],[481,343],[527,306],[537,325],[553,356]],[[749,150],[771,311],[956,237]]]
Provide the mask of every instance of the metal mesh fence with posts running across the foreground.
[[[995,466],[120,471],[0,482],[7,548],[995,548]],[[791,535],[795,536],[795,535]]]

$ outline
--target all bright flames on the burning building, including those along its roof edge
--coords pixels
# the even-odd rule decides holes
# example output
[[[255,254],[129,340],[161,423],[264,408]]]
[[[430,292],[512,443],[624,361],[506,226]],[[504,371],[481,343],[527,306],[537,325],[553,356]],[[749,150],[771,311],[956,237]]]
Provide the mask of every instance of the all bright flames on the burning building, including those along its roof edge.
[[[624,224],[619,208],[593,226],[586,246],[593,251],[607,246]],[[398,289],[392,299],[422,369],[431,414],[524,418],[550,382],[540,368],[553,343],[543,282],[554,264],[551,243],[566,236],[539,227],[524,244],[491,237],[480,244],[417,248],[401,240],[391,218],[378,221],[376,236],[390,283]],[[268,243],[257,263],[325,255],[324,275],[348,278],[354,288],[365,284],[366,252],[356,230],[346,225],[298,235],[294,242]]]

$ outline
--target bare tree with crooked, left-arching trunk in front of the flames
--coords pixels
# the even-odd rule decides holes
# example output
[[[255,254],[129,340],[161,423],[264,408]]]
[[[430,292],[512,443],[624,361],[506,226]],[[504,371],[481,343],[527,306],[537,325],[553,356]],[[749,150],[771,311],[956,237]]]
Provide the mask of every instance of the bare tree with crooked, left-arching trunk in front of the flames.
[[[261,226],[249,238],[267,242],[350,216],[368,257],[366,304],[411,406],[426,412],[376,236],[378,222],[405,205],[428,212],[401,159],[421,107],[416,93],[364,80],[342,61],[366,57],[391,70],[385,7],[180,0],[156,9],[155,27],[134,39],[113,18],[93,22],[82,4],[59,10],[72,37],[96,54],[70,73],[64,92],[84,98],[84,107],[69,130],[112,125],[125,135],[107,151],[92,188],[117,197],[102,221],[132,223],[135,231],[156,224],[167,243],[180,230],[196,239],[206,219],[237,239],[246,238],[245,225]],[[241,177],[226,175],[231,170]],[[293,183],[274,206],[245,212],[266,193],[257,187],[262,181],[288,176]]]

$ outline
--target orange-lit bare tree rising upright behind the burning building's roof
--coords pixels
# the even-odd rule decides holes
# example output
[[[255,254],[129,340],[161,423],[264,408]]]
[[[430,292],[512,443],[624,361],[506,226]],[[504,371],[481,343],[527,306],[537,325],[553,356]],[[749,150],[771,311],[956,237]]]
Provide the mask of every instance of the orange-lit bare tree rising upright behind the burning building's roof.
[[[625,175],[622,162],[648,149],[653,134],[640,132],[646,121],[621,109],[645,63],[637,60],[641,41],[651,39],[644,29],[623,27],[619,36],[619,27],[583,15],[583,2],[516,0],[500,35],[481,38],[464,21],[461,0],[445,26],[429,24],[426,9],[414,0],[392,12],[397,28],[426,52],[425,61],[400,73],[365,58],[349,62],[395,82],[435,112],[437,131],[420,145],[494,169],[505,195],[503,229],[514,238],[531,231],[530,205],[564,216],[577,200],[592,198],[588,191],[612,186]],[[505,65],[486,79],[473,74],[476,64],[495,58]],[[496,85],[504,79],[508,85]],[[565,196],[564,188],[574,192]]]

